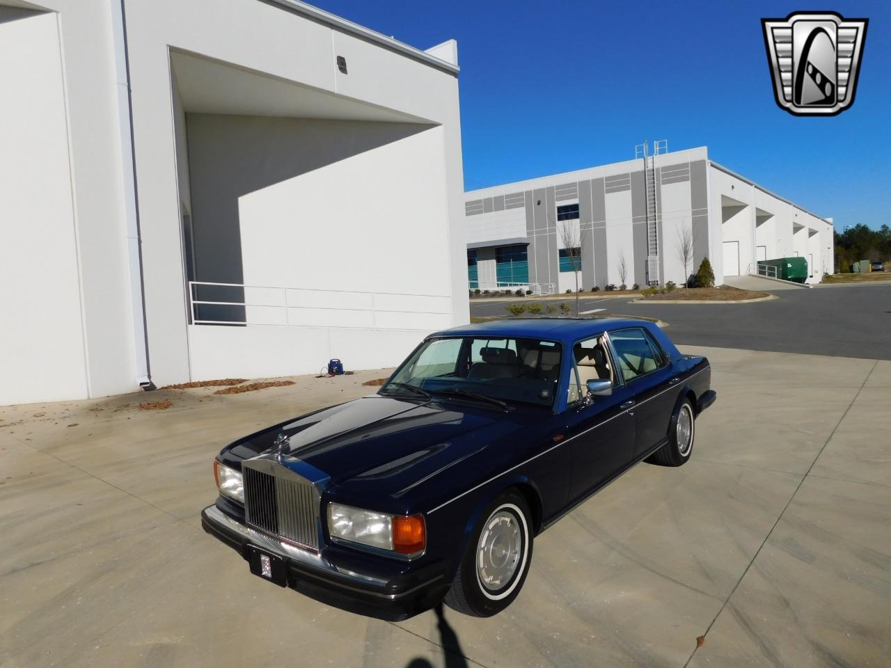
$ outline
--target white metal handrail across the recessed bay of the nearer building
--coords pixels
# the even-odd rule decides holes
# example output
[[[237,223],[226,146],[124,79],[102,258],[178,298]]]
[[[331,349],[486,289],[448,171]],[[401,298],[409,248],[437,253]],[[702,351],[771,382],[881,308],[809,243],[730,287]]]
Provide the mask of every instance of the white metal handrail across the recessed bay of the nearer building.
[[[229,299],[198,299],[197,297],[197,287],[198,286],[209,286],[216,288],[229,288],[229,289],[255,289],[255,290],[275,290],[281,291],[282,293],[282,301],[278,304],[270,304],[266,303],[266,301],[231,301]],[[290,291],[295,292],[310,292],[310,293],[337,293],[337,294],[345,294],[345,295],[364,295],[371,298],[371,306],[370,307],[356,307],[356,306],[326,306],[326,305],[298,305],[292,304],[289,302],[288,293]],[[375,304],[375,297],[435,297],[435,298],[446,298],[449,300],[449,310],[446,311],[409,311],[403,309],[396,308],[378,308]],[[418,314],[418,315],[450,315],[452,304],[452,297],[449,295],[424,295],[424,294],[411,294],[407,292],[372,292],[368,290],[344,290],[344,289],[315,289],[315,288],[288,288],[282,286],[269,286],[269,285],[247,285],[244,283],[221,283],[216,281],[188,281],[188,306],[189,306],[189,315],[191,317],[192,324],[196,325],[264,325],[271,327],[319,327],[320,325],[303,325],[298,323],[290,322],[290,310],[291,309],[310,309],[314,311],[346,311],[351,313],[371,313],[372,314],[372,329],[377,328],[377,314]],[[247,311],[244,314],[244,320],[206,320],[201,319],[199,317],[198,311],[196,310],[196,306],[198,305],[215,305],[215,306],[241,306],[247,309],[248,307],[256,307],[256,308],[278,308],[284,309],[284,322],[249,322]],[[356,329],[368,329],[365,325],[338,325],[338,327],[346,327],[346,328],[356,328]],[[388,328],[389,329],[389,328]],[[405,329],[405,328],[400,328]],[[411,328],[409,328],[411,329]],[[426,330],[424,328],[419,329]]]

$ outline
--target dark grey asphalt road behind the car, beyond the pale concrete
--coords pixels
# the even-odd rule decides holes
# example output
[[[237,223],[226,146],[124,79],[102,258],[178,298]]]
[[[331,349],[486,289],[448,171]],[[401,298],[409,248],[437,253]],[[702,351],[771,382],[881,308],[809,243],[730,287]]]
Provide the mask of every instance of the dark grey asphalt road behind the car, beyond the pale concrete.
[[[777,299],[751,304],[660,305],[586,293],[579,310],[658,318],[669,324],[666,331],[675,343],[688,346],[891,360],[891,284],[781,289],[774,294]],[[567,297],[574,306],[575,299]],[[504,315],[506,304],[471,301],[470,314]]]

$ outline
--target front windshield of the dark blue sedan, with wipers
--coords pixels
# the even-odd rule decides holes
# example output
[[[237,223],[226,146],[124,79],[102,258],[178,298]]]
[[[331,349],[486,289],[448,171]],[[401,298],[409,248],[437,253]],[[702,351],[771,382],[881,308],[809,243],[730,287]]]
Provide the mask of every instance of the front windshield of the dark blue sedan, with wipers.
[[[380,388],[388,395],[456,395],[551,406],[560,345],[532,338],[431,338]]]

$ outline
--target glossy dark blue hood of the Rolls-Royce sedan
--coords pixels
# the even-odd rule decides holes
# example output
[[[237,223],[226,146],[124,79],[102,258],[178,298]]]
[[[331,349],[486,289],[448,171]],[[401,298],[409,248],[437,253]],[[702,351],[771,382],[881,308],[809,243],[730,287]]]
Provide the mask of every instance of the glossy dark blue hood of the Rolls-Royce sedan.
[[[335,485],[383,485],[398,496],[425,477],[480,452],[522,427],[525,411],[461,402],[417,402],[372,395],[276,425],[230,446],[240,459],[277,447],[323,471]]]

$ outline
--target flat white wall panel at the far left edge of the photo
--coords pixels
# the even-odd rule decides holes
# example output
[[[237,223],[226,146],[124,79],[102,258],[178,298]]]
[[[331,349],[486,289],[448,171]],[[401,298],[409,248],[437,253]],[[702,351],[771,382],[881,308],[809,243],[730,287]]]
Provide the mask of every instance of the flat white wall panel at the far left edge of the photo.
[[[89,394],[57,26],[0,8],[0,404]]]

